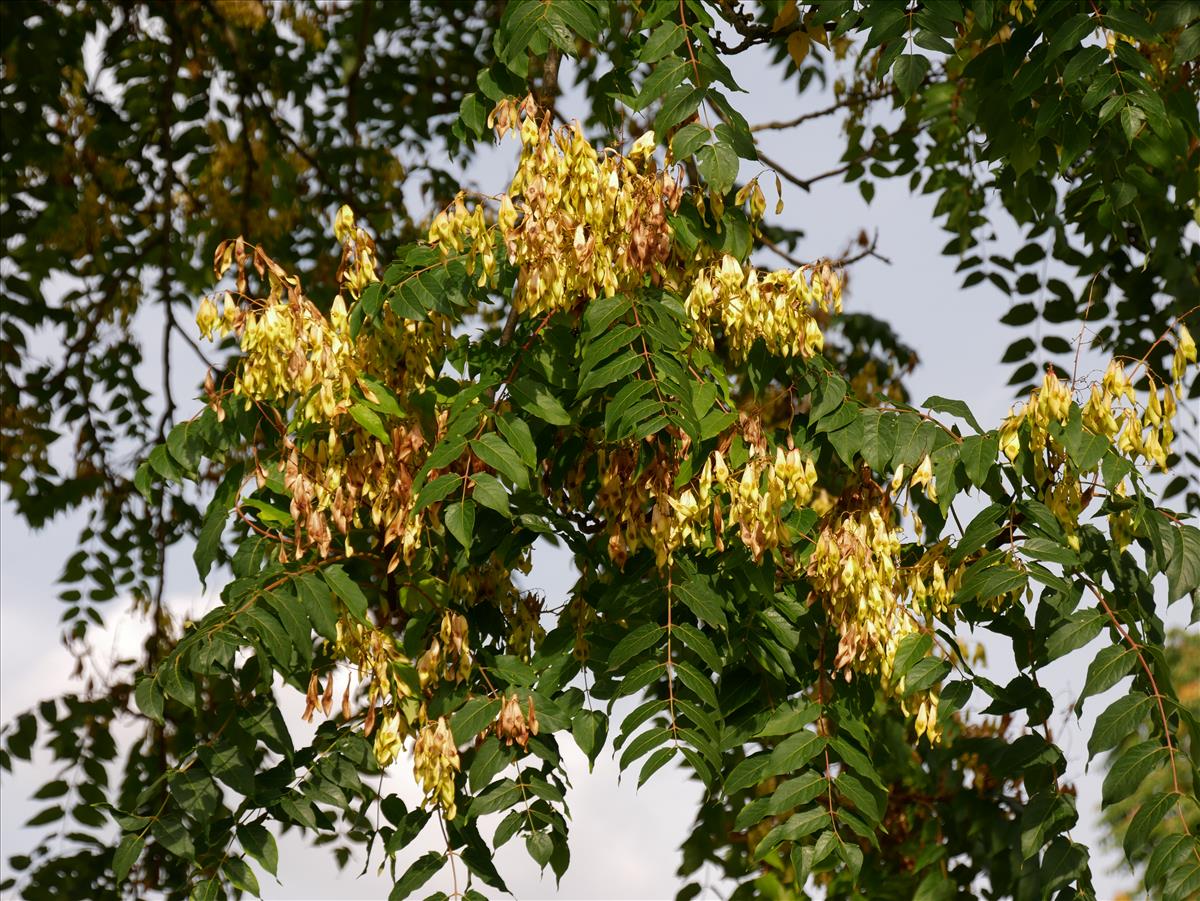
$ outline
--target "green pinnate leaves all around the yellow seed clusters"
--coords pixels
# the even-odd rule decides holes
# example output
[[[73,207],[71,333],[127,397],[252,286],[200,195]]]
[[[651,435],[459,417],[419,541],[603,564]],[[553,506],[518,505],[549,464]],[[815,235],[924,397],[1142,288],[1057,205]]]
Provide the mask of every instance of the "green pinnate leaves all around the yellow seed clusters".
[[[1110,645],[1091,665],[1085,697],[1129,675],[1134,693],[1102,715],[1090,750],[1108,751],[1140,731],[1139,741],[1115,756],[1105,804],[1130,797],[1144,777],[1164,780],[1162,794],[1136,804],[1141,819],[1127,833],[1127,849],[1139,859],[1146,849],[1138,842],[1154,834],[1146,827],[1178,822],[1176,837],[1150,857],[1147,885],[1169,896],[1194,893],[1196,727],[1171,684],[1151,577],[1165,573],[1169,602],[1194,595],[1200,533],[1156,506],[1128,461],[1080,425],[1076,403],[1052,439],[1079,473],[1090,474],[1093,489],[1108,489],[1100,512],[1128,515],[1140,557],[1086,522],[1068,534],[1045,504],[1028,444],[1001,456],[998,430],[979,426],[961,402],[935,397],[916,409],[899,386],[884,402],[877,389],[908,365],[910,354],[877,323],[834,320],[830,334],[841,329],[846,343],[830,343],[823,356],[775,358],[758,347],[734,366],[720,344],[706,352],[694,343],[682,296],[648,283],[610,300],[578,299],[536,320],[510,316],[500,330],[514,269],[502,263],[498,281],[485,289],[452,262],[439,265],[428,248],[401,246],[413,234],[394,190],[396,160],[371,150],[395,144],[397,124],[418,146],[434,134],[469,144],[481,137],[496,101],[529,89],[552,98],[559,58],[574,56],[592,106],[589,125],[619,137],[628,114],[653,114],[659,139],[707,198],[704,215],[671,218],[672,240],[688,252],[707,246],[744,260],[754,232],[734,196],[738,160],[755,160],[758,151],[728,100],[740,89],[722,56],[762,46],[798,73],[804,90],[833,68],[816,48],[829,47],[838,58],[857,49],[856,77],[864,84],[838,106],[853,114],[852,146],[839,174],[864,187],[868,173],[923,175],[914,186],[941,193],[956,235],[953,253],[979,240],[982,204],[998,196],[1019,223],[1030,224],[1031,238],[1049,235],[1052,247],[1034,242],[1013,260],[990,257],[991,264],[1015,272],[1052,254],[1088,280],[1082,298],[1048,282],[1056,300],[1018,305],[1009,320],[1086,319],[1100,326],[1102,347],[1140,358],[1147,330],[1168,335],[1189,312],[1183,299],[1196,287],[1196,248],[1183,235],[1190,214],[1182,203],[1196,196],[1189,154],[1198,128],[1194,104],[1186,103],[1195,88],[1194,5],[1159,12],[1146,4],[1074,10],[980,0],[908,11],[883,2],[802,8],[774,0],[748,16],[701,0],[512,0],[490,42],[494,58],[476,60],[475,30],[492,35],[496,8],[484,7],[470,14],[454,4],[360,4],[318,16],[305,5],[280,12],[217,2],[115,10],[110,19],[66,5],[5,7],[10,22],[20,19],[6,32],[23,35],[6,46],[6,74],[42,78],[7,79],[5,103],[64,104],[52,119],[66,134],[80,131],[72,142],[11,137],[5,146],[5,179],[13,182],[4,191],[4,216],[23,236],[6,250],[17,265],[6,272],[6,299],[19,300],[19,314],[5,317],[6,483],[34,521],[35,511],[102,499],[94,534],[106,543],[72,561],[72,572],[100,583],[92,601],[131,582],[152,595],[163,548],[187,529],[200,533],[202,573],[226,559],[233,571],[222,603],[178,641],[155,612],[150,662],[136,685],[118,680],[98,699],[60,699],[7,731],[5,767],[12,757],[29,758],[38,719],[64,767],[64,777],[42,789],[50,803],[34,825],[71,816],[90,830],[71,833],[68,851],[46,843],[36,860],[14,860],[25,871],[23,889],[256,893],[247,861],[268,872],[277,864],[266,824],[334,843],[340,861],[359,845],[368,854],[382,849],[394,864],[431,813],[407,810],[395,795],[379,798],[365,779],[379,771],[377,750],[364,739],[373,705],[347,707],[301,749],[280,708],[281,692],[311,693],[314,674],[330,693],[344,662],[341,641],[362,627],[394,643],[397,684],[420,698],[416,725],[449,722],[461,756],[452,786],[457,816],[444,821],[446,849],[398,875],[396,897],[458,861],[473,879],[503,888],[491,848],[517,835],[560,876],[569,858],[559,743],[569,734],[595,759],[610,732],[622,767],[640,765],[640,780],[672,762],[701,780],[704,809],[685,845],[683,871],[716,861],[742,883],[739,896],[798,895],[812,878],[834,896],[943,897],[973,893],[984,879],[994,895],[1087,895],[1088,853],[1067,834],[1075,806],[1061,783],[1062,752],[1044,728],[1052,702],[1037,673],[1102,633]],[[448,20],[457,25],[446,28]],[[82,38],[97,31],[107,41],[102,58],[118,73],[115,100],[82,74]],[[446,34],[461,42],[439,43]],[[726,43],[731,34],[733,44]],[[376,35],[386,38],[384,49]],[[1111,48],[1092,46],[1108,35],[1115,35]],[[425,42],[444,56],[419,61],[421,54],[409,53]],[[60,44],[77,60],[66,89],[58,70],[47,74],[38,65],[55,59]],[[293,54],[289,46],[304,52]],[[932,61],[914,46],[934,54]],[[346,48],[354,64],[343,70]],[[599,76],[601,61],[611,68]],[[444,96],[427,90],[434,78],[427,67],[438,70],[439,84],[452,82]],[[157,72],[166,77],[155,79]],[[214,78],[223,78],[222,90],[238,101],[228,110],[210,113],[202,102]],[[463,94],[470,79],[478,91]],[[293,84],[306,86],[296,96],[307,97],[312,110],[337,114],[284,115],[272,97],[277,85]],[[1008,109],[990,102],[995,91],[1010,95]],[[864,110],[894,98],[907,101],[901,124],[877,128],[864,149]],[[116,112],[131,109],[140,113]],[[192,132],[175,122],[179,109],[196,116],[188,120],[197,122]],[[454,109],[461,118],[451,122]],[[240,127],[230,133],[227,119]],[[923,132],[934,139],[918,140]],[[181,133],[194,137],[188,143]],[[1039,136],[1032,149],[1019,139],[1026,133]],[[1080,134],[1091,137],[1081,143]],[[157,155],[144,156],[146,146]],[[131,161],[142,174],[136,188],[113,174]],[[86,191],[72,178],[54,176],[74,176],[86,164],[100,167],[84,180]],[[301,174],[313,180],[304,190],[295,187]],[[430,184],[436,196],[449,193],[439,173],[430,173]],[[1126,187],[1112,192],[1102,187],[1108,185]],[[1136,204],[1130,191],[1140,192]],[[92,202],[89,228],[64,227],[55,240],[37,232],[72,221],[38,212],[83,210],[79,194]],[[378,287],[352,305],[354,335],[379,328],[384,305],[402,320],[445,317],[457,326],[444,356],[431,361],[440,378],[400,397],[371,389],[372,401],[360,392],[337,420],[354,443],[386,442],[396,428],[422,424],[428,456],[413,489],[427,523],[425,546],[400,569],[379,553],[383,536],[368,516],[349,530],[346,559],[316,552],[281,559],[278,536],[295,528],[287,487],[264,477],[241,498],[241,486],[244,476],[264,467],[265,475],[280,462],[265,436],[277,432],[286,407],[214,395],[208,412],[168,431],[168,394],[157,426],[164,440],[137,483],[109,459],[112,424],[97,414],[103,390],[115,397],[113,419],[134,451],[155,433],[149,392],[134,374],[140,352],[128,317],[149,293],[162,301],[168,338],[182,330],[172,304],[206,287],[198,264],[205,244],[253,233],[294,254],[287,268],[305,272],[314,298],[331,298],[341,274],[323,262],[316,223],[322,206],[343,198],[355,198],[397,257]],[[277,209],[288,215],[266,215]],[[306,210],[311,215],[298,215]],[[182,230],[180,221],[188,223]],[[109,222],[115,224],[104,232]],[[131,234],[144,244],[131,242]],[[54,248],[50,264],[47,247]],[[503,260],[503,245],[497,257]],[[66,269],[66,260],[78,268]],[[968,280],[983,265],[965,260]],[[139,277],[143,270],[157,284],[150,275]],[[84,292],[65,306],[47,302],[42,292],[53,272],[78,276]],[[989,275],[1009,290],[1000,272]],[[1033,295],[1040,282],[1026,275],[1015,290]],[[1104,305],[1109,286],[1122,296],[1111,310]],[[499,314],[491,312],[496,306]],[[478,330],[480,322],[491,325]],[[46,323],[60,324],[68,336],[64,346],[78,353],[68,353],[60,370],[26,371],[19,354]],[[109,331],[119,353],[97,340]],[[1064,352],[1050,337],[1043,344]],[[1147,362],[1162,374],[1171,342],[1150,349]],[[1018,342],[1012,356],[1036,350]],[[864,354],[877,360],[880,378],[847,385],[842,376],[857,374]],[[1014,384],[1034,372],[1019,370]],[[66,426],[85,438],[78,471],[65,479],[46,453],[64,407]],[[643,547],[617,565],[605,540],[610,513],[593,503],[602,489],[599,453],[636,449],[631,476],[670,461],[679,487],[712,451],[746,452],[746,434],[732,434],[740,428],[739,412],[761,421],[757,437],[770,453],[796,446],[816,461],[832,506],[785,509],[791,540],[766,554],[737,541],[685,546],[664,569]],[[730,451],[734,463],[737,452]],[[902,559],[913,565],[936,553],[961,569],[953,611],[923,618],[900,642],[892,679],[859,673],[846,683],[834,665],[838,626],[820,597],[809,602],[803,564],[829,517],[862,503],[864,486],[886,485],[901,467],[911,473],[926,459],[936,494],[926,482],[913,495],[924,533],[905,543]],[[178,486],[214,477],[220,486],[202,516]],[[1132,495],[1117,497],[1127,480]],[[953,505],[968,494],[986,506],[959,528]],[[234,510],[232,542],[223,545]],[[514,588],[512,572],[540,536],[563,540],[581,572],[562,609],[545,611],[536,596]],[[133,560],[137,571],[124,577]],[[76,606],[72,621],[98,618],[92,607]],[[407,661],[419,661],[439,629],[444,635],[451,612],[468,624],[473,667],[464,679],[427,683],[419,665]],[[956,626],[1009,637],[1019,675],[996,685],[973,672],[958,650]],[[1001,719],[976,722],[960,713],[973,691],[988,698],[984,713]],[[932,745],[918,737],[902,707],[929,692],[940,697],[942,739]],[[511,697],[529,710],[526,726],[538,725],[517,741],[500,714]],[[610,723],[614,702],[625,697],[638,705],[619,726]],[[145,733],[126,757],[120,785],[109,788],[101,774],[118,752],[110,733],[118,719],[134,720]],[[68,777],[74,768],[86,781]],[[370,816],[374,805],[386,823]],[[97,839],[98,811],[109,811],[121,828],[115,849]],[[488,843],[481,818],[497,813],[503,817]]]

